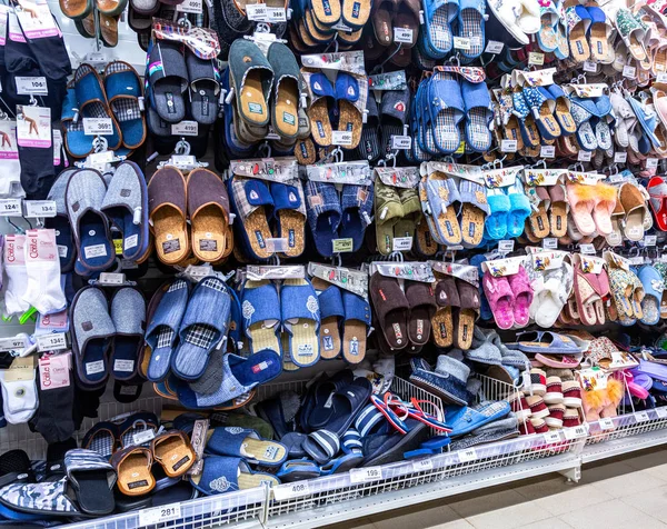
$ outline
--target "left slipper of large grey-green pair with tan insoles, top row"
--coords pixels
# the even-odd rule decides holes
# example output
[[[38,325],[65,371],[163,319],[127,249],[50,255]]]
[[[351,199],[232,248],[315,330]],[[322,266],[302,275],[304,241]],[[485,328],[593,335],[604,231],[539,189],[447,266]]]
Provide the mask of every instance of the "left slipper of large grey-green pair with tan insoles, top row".
[[[229,48],[229,74],[239,116],[251,126],[267,124],[273,69],[255,42],[243,39],[232,42]]]

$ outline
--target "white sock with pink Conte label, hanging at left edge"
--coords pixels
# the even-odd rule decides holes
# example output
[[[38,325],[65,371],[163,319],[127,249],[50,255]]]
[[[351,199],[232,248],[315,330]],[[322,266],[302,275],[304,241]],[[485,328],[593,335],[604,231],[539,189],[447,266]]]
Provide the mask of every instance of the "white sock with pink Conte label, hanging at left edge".
[[[54,230],[28,230],[26,233],[28,288],[23,300],[40,315],[60,312],[67,306],[60,286],[60,258]]]

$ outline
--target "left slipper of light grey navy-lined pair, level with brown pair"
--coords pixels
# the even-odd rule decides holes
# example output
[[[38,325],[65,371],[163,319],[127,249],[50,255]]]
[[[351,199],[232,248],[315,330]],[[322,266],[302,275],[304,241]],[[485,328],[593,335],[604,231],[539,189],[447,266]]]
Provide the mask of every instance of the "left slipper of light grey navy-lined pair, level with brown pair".
[[[73,172],[64,191],[69,222],[82,267],[104,270],[116,257],[106,214],[101,211],[107,184],[93,169]]]

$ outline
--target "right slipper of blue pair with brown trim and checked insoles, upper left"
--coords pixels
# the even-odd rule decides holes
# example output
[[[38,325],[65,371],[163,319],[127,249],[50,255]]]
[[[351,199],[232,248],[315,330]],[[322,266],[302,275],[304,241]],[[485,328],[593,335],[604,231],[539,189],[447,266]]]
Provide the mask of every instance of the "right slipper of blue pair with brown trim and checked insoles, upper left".
[[[104,90],[120,128],[123,147],[138,149],[147,133],[139,106],[139,98],[143,97],[139,73],[127,62],[110,62],[104,68]]]

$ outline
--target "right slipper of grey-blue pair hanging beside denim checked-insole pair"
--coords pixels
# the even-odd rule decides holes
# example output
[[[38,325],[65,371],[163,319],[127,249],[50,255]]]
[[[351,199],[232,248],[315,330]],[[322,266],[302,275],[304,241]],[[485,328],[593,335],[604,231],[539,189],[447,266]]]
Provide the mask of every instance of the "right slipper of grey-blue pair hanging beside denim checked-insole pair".
[[[146,328],[146,300],[139,290],[122,288],[111,299],[111,320],[116,327],[113,339],[113,378],[132,379],[138,369],[138,358],[143,346]]]

